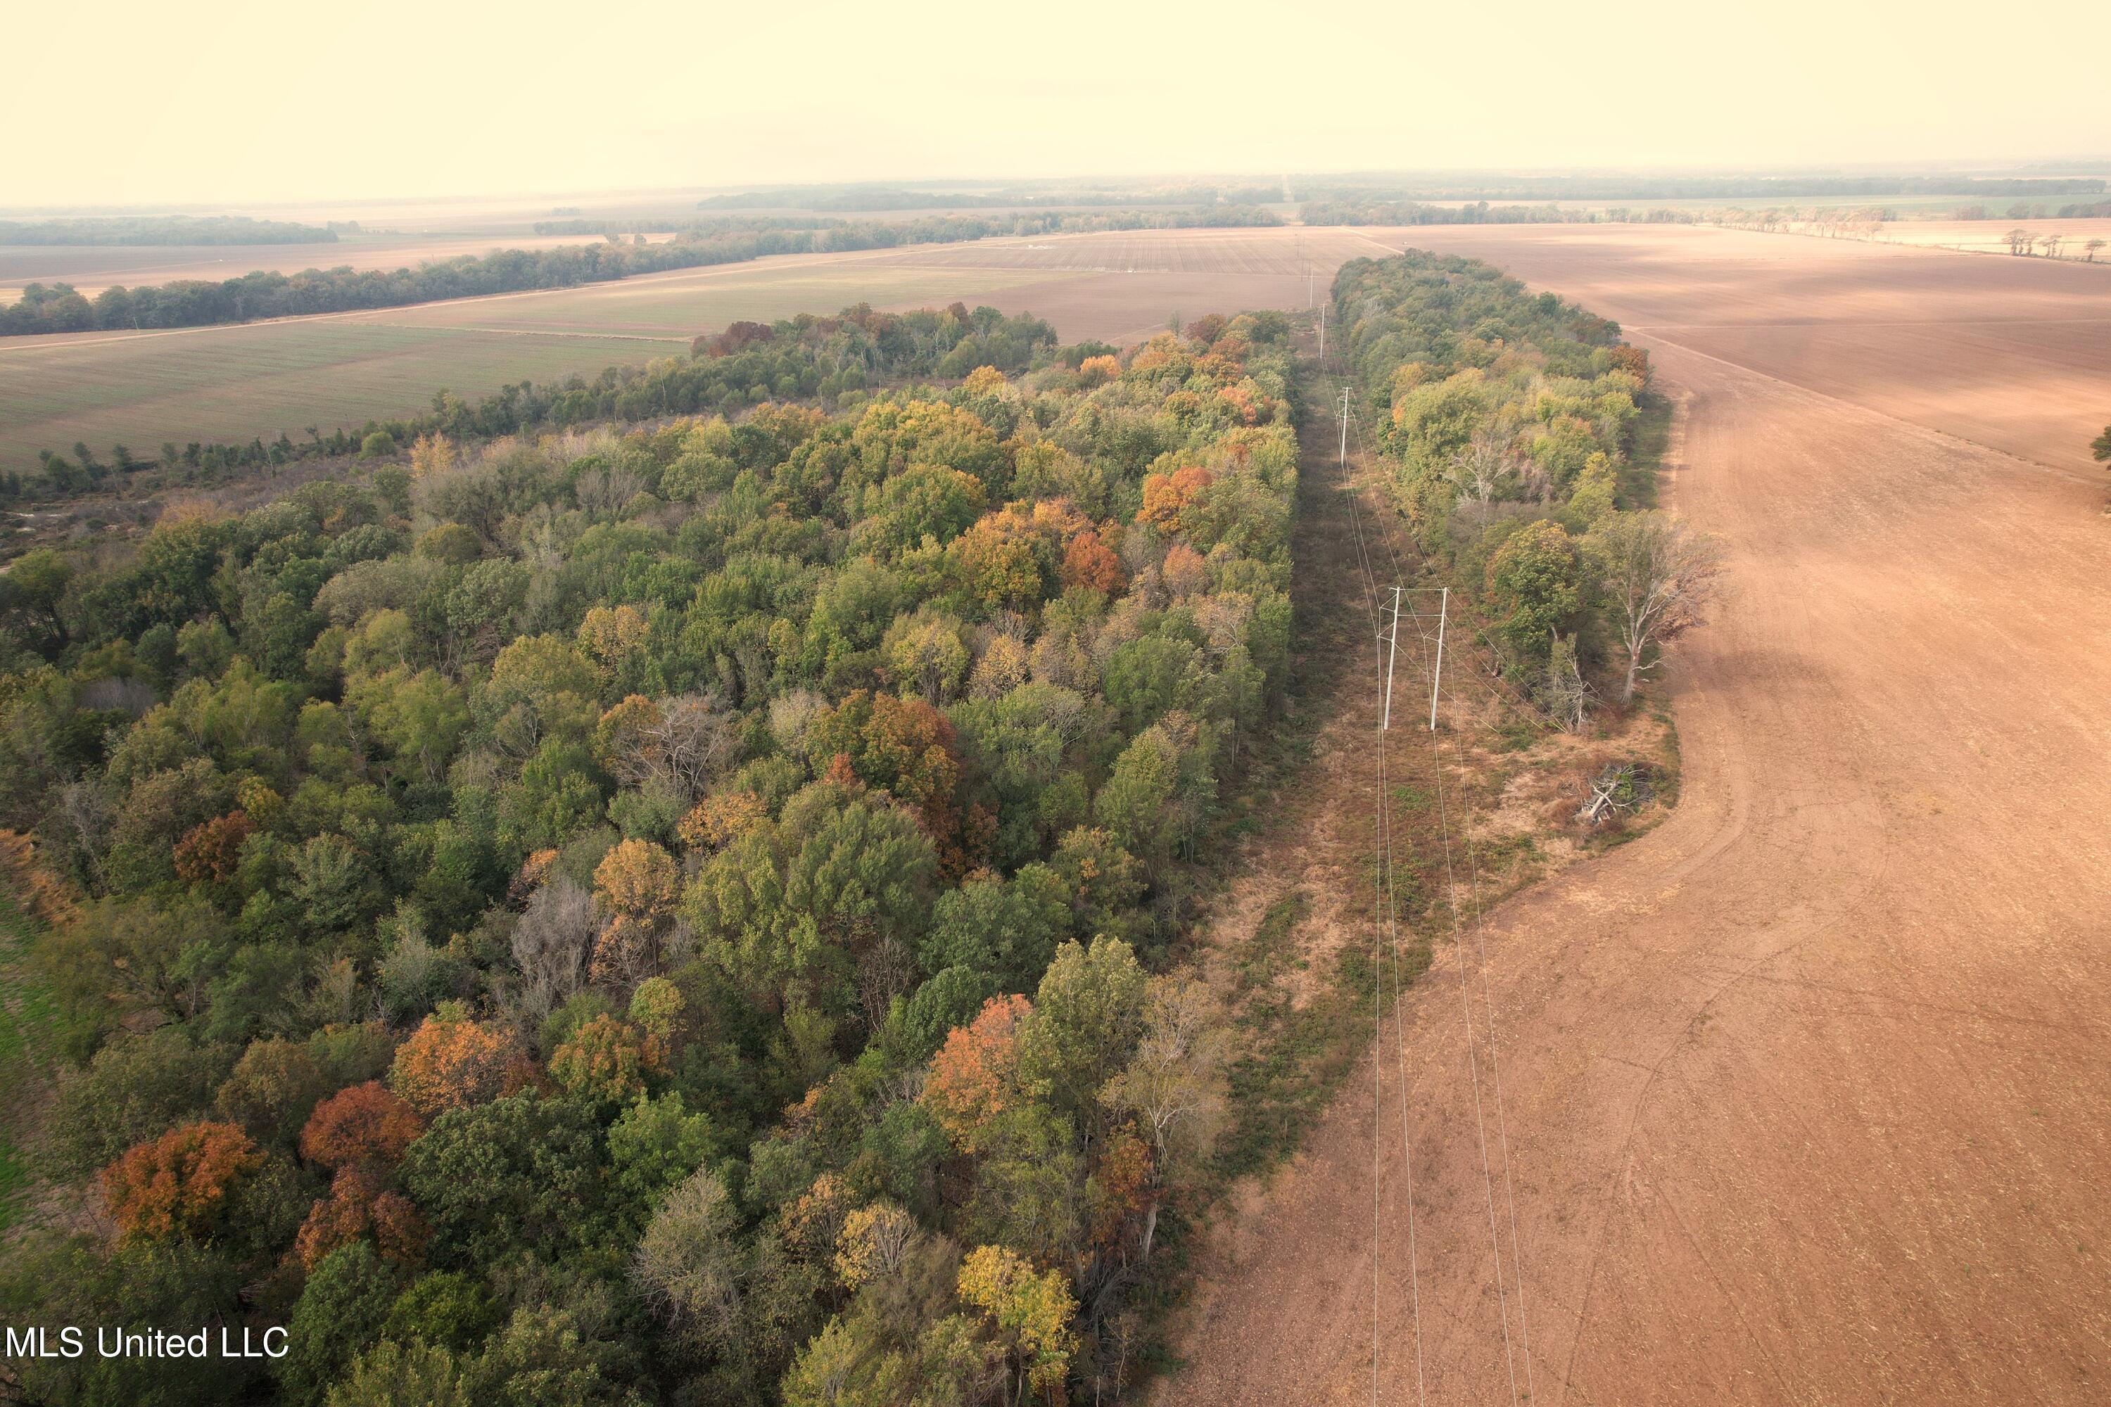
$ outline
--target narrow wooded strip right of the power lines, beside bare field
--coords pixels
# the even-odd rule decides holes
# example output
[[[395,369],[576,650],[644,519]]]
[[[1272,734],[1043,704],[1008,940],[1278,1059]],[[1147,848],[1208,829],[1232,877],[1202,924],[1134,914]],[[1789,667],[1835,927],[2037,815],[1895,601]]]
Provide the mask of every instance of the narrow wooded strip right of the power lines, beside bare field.
[[[1600,667],[1632,702],[1718,574],[1712,542],[1636,510],[1649,354],[1490,264],[1419,249],[1345,264],[1334,310],[1395,502],[1480,593],[1511,677],[1571,728]]]

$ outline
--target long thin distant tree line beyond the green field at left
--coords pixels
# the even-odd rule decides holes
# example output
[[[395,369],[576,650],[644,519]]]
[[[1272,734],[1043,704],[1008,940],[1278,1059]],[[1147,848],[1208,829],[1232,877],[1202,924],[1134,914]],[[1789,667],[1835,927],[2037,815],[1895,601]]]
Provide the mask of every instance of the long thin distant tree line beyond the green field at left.
[[[559,221],[570,224],[570,221]],[[298,274],[258,270],[220,283],[179,278],[144,289],[110,287],[93,300],[70,283],[30,283],[21,300],[0,308],[0,335],[23,338],[63,331],[110,331],[129,327],[209,327],[253,319],[348,312],[359,308],[405,308],[448,297],[481,297],[526,289],[568,289],[608,283],[631,274],[657,274],[709,264],[745,264],[773,253],[832,253],[851,249],[895,249],[901,245],[944,245],[996,234],[1045,234],[1053,230],[1146,230],[1186,226],[1275,226],[1273,211],[1216,207],[1186,213],[1127,215],[1037,215],[982,219],[973,215],[927,215],[923,219],[863,221],[709,221],[686,228],[673,240],[619,243],[559,249],[494,249],[481,257],[433,259],[418,268],[310,268]],[[540,226],[538,226],[540,228]]]

